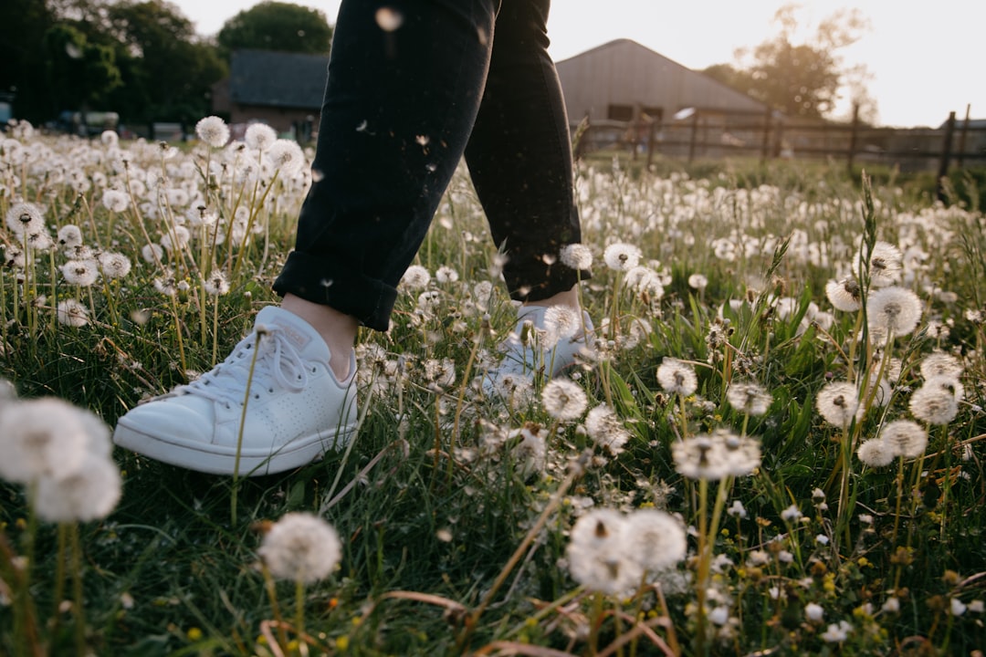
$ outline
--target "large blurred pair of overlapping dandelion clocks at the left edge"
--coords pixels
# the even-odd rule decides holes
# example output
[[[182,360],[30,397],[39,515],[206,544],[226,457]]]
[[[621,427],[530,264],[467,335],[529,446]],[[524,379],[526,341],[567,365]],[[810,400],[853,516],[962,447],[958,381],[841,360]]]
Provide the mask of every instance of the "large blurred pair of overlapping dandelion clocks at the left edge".
[[[120,497],[109,428],[54,397],[0,399],[0,477],[36,488],[35,511],[49,522],[104,518]]]

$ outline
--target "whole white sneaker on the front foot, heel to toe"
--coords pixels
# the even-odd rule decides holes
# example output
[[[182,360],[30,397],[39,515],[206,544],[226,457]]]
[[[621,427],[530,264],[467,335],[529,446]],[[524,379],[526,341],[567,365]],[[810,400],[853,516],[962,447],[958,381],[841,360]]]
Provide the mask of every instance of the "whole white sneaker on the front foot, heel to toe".
[[[325,341],[308,322],[267,306],[226,361],[132,409],[120,418],[113,442],[217,475],[267,475],[303,466],[345,446],[356,432],[355,354],[345,381],[336,379],[328,358]]]

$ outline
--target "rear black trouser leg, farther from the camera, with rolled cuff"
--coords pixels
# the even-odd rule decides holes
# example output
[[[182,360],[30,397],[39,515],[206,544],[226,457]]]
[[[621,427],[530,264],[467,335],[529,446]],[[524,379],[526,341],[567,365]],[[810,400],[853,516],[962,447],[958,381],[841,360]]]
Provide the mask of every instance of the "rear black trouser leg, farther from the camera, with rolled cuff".
[[[572,289],[580,275],[559,261],[581,230],[568,118],[547,52],[549,4],[503,0],[465,159],[493,239],[505,249],[511,296],[577,307]]]

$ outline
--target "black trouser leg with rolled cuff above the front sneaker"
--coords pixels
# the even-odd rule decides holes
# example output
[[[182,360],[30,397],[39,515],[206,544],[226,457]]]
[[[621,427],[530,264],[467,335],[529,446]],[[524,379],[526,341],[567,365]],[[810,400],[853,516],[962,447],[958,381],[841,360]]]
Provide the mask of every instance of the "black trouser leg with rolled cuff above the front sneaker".
[[[274,285],[289,306],[329,306],[370,328],[387,329],[396,285],[428,230],[478,111],[499,4],[343,2],[318,126],[315,181],[295,250]]]

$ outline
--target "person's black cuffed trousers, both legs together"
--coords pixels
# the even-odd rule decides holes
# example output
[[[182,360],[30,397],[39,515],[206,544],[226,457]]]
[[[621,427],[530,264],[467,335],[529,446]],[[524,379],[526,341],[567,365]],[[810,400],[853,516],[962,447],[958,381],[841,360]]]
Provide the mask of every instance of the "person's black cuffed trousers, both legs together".
[[[547,53],[548,5],[342,3],[314,182],[278,294],[387,330],[396,285],[463,155],[508,256],[511,296],[537,300],[575,285],[579,274],[558,261],[581,234],[568,119]]]

